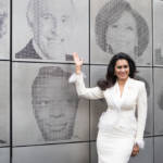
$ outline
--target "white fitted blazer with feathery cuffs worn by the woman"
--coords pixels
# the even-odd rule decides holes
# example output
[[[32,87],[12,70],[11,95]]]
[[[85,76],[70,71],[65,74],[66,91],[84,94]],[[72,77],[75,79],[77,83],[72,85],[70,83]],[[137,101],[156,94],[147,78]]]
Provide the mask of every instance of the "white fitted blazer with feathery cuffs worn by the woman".
[[[114,125],[136,130],[135,143],[143,148],[143,131],[147,118],[147,91],[145,83],[128,77],[121,97],[117,82],[113,87],[105,90],[101,90],[99,87],[86,88],[83,76],[83,73],[79,75],[73,74],[70,78],[71,83],[75,83],[78,96],[91,100],[105,98],[108,103],[106,112],[100,117],[99,127],[103,126],[104,116],[106,116],[106,120],[110,118],[106,127]],[[117,114],[111,114],[111,111]],[[106,114],[108,112],[109,114]],[[109,117],[108,115],[111,116]],[[117,115],[118,117],[116,118],[113,115]]]

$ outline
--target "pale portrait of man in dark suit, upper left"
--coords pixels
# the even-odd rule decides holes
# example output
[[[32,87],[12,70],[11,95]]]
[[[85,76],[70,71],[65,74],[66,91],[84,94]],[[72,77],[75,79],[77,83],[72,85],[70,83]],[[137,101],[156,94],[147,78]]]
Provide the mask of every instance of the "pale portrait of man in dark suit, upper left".
[[[65,61],[68,42],[74,27],[73,0],[30,0],[27,8],[27,22],[34,33],[29,43],[37,55],[32,55],[32,48],[16,58]],[[25,53],[24,51],[22,51]]]

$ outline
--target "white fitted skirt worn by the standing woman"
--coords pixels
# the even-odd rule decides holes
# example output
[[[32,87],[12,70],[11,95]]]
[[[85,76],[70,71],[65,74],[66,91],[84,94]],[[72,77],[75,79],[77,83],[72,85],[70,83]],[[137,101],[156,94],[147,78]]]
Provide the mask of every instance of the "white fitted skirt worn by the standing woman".
[[[121,127],[99,129],[97,137],[98,163],[128,163],[135,134]]]

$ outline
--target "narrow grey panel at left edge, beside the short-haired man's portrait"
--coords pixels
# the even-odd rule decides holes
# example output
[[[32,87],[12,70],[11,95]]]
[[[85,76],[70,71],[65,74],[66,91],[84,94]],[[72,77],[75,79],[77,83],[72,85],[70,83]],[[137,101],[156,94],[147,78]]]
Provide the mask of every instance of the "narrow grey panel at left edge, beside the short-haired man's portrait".
[[[0,147],[10,145],[10,64],[0,62]]]

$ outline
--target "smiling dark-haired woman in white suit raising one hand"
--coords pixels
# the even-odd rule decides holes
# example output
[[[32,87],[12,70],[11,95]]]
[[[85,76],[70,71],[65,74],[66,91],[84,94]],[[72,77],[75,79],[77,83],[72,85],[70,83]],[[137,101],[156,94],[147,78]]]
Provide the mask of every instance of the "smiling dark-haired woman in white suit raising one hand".
[[[74,53],[76,73],[70,78],[77,93],[87,99],[105,98],[108,109],[99,121],[97,137],[98,163],[127,163],[143,148],[143,131],[147,118],[147,92],[145,83],[134,79],[135,62],[129,55],[114,55],[108,66],[104,80],[86,88],[83,60]],[[137,112],[137,114],[136,114]]]

